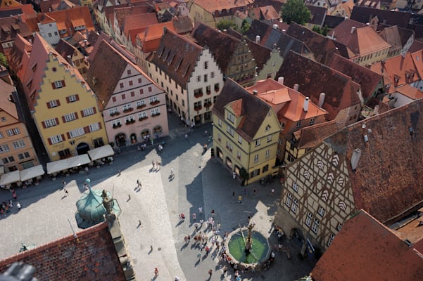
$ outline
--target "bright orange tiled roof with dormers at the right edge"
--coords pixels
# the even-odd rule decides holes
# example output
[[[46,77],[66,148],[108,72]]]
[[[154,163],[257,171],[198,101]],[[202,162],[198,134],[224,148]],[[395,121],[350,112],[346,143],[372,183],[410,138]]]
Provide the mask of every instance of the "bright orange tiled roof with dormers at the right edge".
[[[397,86],[412,84],[420,79],[410,53],[373,63],[370,70],[383,75],[386,93],[393,93]]]

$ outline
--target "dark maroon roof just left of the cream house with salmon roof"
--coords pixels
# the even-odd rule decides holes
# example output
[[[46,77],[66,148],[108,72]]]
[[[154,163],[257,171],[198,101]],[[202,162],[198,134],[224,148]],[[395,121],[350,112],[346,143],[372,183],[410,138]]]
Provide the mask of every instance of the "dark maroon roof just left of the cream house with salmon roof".
[[[339,53],[331,39],[324,37],[322,34],[308,30],[308,28],[302,25],[297,25],[295,22],[289,25],[286,34],[303,41],[310,48],[312,53],[314,53],[318,63],[327,63],[334,53]]]

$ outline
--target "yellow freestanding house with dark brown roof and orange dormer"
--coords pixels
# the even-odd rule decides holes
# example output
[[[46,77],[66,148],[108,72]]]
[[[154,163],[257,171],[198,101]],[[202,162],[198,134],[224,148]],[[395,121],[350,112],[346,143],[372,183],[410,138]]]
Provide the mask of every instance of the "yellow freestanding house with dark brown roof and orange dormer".
[[[270,105],[227,79],[212,112],[215,157],[231,173],[246,185],[277,174],[281,126]]]

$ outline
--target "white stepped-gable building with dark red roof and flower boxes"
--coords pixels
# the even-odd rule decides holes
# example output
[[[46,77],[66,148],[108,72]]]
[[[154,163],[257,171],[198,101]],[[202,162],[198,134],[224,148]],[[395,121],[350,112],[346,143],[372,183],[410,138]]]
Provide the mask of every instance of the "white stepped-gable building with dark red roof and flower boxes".
[[[212,120],[223,74],[208,48],[165,29],[158,50],[147,60],[150,77],[165,89],[168,105],[187,124]]]

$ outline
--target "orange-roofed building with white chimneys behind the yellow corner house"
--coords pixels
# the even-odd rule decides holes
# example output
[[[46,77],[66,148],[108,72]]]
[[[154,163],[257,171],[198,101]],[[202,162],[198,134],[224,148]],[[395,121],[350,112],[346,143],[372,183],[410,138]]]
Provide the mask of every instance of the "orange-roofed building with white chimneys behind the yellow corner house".
[[[287,142],[293,140],[293,132],[305,126],[326,121],[326,110],[310,102],[310,98],[284,85],[281,77],[278,81],[265,79],[246,89],[265,103],[277,114],[281,126],[277,147],[277,164],[292,162],[294,155],[285,150]],[[285,161],[285,159],[287,159]]]

